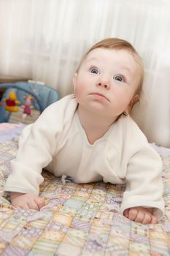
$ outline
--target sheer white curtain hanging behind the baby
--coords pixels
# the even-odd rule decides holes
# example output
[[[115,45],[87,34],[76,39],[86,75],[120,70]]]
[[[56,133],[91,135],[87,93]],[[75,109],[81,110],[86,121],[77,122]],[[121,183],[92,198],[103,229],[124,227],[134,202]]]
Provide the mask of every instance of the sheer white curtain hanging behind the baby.
[[[104,37],[131,42],[144,61],[134,118],[170,147],[169,0],[0,0],[0,74],[45,82],[61,97],[83,53]]]

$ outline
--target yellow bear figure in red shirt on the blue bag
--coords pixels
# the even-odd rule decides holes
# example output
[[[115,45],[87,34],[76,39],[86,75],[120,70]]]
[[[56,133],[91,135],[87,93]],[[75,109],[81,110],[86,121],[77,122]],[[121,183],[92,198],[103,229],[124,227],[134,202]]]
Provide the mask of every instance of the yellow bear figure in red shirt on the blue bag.
[[[19,105],[20,102],[17,100],[15,91],[10,91],[9,98],[4,99],[4,102],[6,102],[5,110],[9,112],[18,112],[18,107],[16,105]]]

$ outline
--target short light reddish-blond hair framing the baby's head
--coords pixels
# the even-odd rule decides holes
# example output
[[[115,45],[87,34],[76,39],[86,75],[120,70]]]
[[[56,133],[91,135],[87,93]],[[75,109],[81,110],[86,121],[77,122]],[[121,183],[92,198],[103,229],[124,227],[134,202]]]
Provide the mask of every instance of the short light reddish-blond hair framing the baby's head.
[[[139,66],[141,67],[141,77],[139,80],[139,85],[136,89],[136,94],[140,95],[141,91],[142,91],[142,83],[144,80],[144,68],[143,68],[143,64],[142,64],[142,59],[139,56],[139,54],[136,52],[135,48],[133,45],[131,45],[130,42],[124,40],[124,39],[120,39],[120,38],[106,38],[101,40],[100,42],[97,42],[95,45],[93,45],[86,53],[85,55],[82,57],[79,67],[77,68],[77,72],[80,69],[80,66],[82,64],[82,62],[85,60],[86,56],[88,56],[88,53],[90,53],[91,50],[94,50],[96,48],[108,48],[108,49],[116,49],[116,50],[128,50],[134,57],[134,60],[139,64]]]

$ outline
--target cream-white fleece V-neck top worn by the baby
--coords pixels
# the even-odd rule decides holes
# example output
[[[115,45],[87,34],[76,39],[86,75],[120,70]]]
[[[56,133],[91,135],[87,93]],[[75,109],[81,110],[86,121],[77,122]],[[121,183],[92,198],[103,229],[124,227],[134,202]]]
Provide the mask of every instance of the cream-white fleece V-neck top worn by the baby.
[[[77,115],[73,95],[53,103],[20,135],[5,190],[39,194],[42,168],[77,183],[126,184],[120,212],[134,206],[164,211],[162,162],[129,116],[120,116],[93,145]]]

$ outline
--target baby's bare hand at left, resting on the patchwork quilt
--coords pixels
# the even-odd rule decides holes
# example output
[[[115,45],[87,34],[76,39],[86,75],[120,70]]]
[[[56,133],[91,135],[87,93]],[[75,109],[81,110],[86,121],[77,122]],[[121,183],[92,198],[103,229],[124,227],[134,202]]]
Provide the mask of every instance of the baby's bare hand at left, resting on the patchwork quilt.
[[[34,209],[39,211],[45,206],[45,198],[38,197],[33,193],[23,194],[18,192],[10,192],[12,206],[22,209]]]

